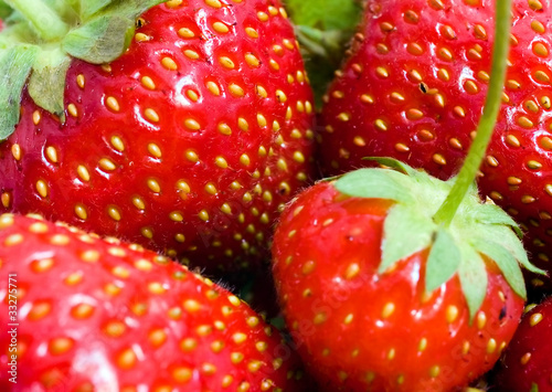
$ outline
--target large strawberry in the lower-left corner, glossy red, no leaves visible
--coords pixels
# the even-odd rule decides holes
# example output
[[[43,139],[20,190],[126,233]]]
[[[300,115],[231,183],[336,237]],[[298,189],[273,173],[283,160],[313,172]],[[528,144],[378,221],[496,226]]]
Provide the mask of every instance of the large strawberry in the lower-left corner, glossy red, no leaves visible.
[[[0,244],[2,391],[311,388],[277,330],[164,256],[12,214]]]

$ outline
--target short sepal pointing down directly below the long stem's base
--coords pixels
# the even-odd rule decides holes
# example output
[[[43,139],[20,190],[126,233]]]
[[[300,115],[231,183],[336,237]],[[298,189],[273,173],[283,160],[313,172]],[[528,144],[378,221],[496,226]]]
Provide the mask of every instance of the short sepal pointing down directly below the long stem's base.
[[[425,289],[432,293],[446,283],[460,265],[461,253],[448,230],[439,227],[427,257]]]

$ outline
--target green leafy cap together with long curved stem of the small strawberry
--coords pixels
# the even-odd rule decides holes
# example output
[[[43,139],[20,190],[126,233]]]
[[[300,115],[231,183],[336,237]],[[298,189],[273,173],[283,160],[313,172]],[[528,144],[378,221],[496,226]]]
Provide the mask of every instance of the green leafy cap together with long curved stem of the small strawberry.
[[[511,1],[496,2],[492,70],[484,112],[460,172],[442,181],[390,158],[394,169],[360,169],[336,181],[338,191],[395,201],[385,218],[380,273],[399,261],[429,250],[424,284],[431,293],[458,276],[474,318],[487,295],[487,266],[495,262],[512,290],[526,298],[521,267],[544,274],[528,259],[516,222],[499,206],[481,202],[475,179],[492,136],[501,104],[509,52]]]

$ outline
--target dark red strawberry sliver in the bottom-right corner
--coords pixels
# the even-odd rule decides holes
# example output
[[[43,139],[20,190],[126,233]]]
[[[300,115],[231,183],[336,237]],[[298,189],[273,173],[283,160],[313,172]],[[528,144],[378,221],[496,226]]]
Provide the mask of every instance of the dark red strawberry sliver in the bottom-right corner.
[[[552,297],[528,306],[495,372],[497,392],[552,391]]]

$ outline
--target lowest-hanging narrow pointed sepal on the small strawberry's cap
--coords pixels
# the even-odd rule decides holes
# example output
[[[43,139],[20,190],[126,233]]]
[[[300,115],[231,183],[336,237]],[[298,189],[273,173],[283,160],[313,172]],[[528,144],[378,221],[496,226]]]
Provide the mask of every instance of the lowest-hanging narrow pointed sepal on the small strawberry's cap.
[[[466,298],[470,322],[487,295],[487,268],[481,255],[471,246],[461,246],[458,267],[461,290]]]

